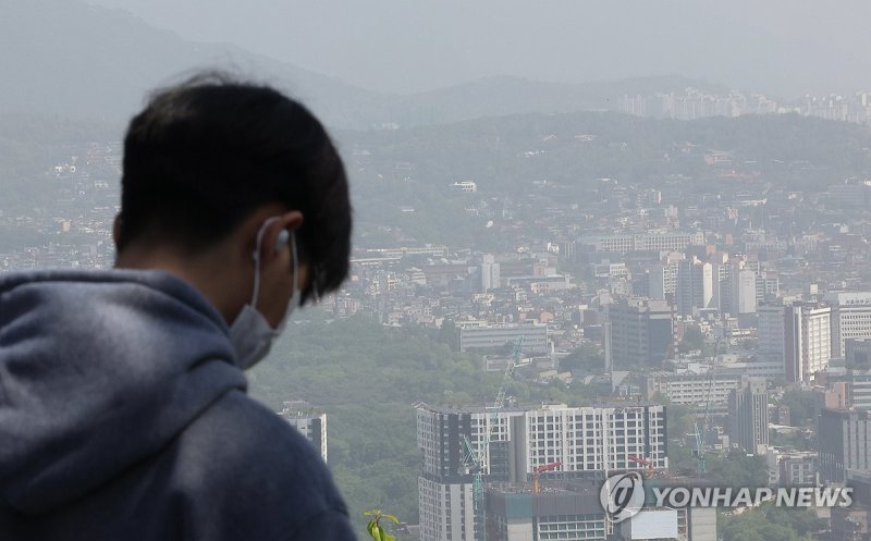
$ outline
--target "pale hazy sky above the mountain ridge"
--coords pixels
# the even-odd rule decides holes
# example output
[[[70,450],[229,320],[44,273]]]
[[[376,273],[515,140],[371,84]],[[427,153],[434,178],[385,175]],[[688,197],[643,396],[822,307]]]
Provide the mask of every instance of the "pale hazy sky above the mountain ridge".
[[[88,0],[348,83],[676,73],[794,97],[871,89],[868,0]]]

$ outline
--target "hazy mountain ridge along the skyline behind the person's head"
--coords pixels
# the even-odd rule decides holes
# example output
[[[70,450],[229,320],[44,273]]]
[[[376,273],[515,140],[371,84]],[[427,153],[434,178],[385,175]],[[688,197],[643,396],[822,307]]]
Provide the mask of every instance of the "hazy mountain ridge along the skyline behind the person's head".
[[[708,83],[663,75],[616,82],[550,83],[500,75],[413,95],[361,89],[339,78],[246,51],[199,44],[116,8],[82,0],[14,2],[0,20],[0,113],[99,118],[123,123],[154,88],[203,70],[272,84],[326,124],[367,130],[446,124],[527,112],[615,110],[624,94]]]

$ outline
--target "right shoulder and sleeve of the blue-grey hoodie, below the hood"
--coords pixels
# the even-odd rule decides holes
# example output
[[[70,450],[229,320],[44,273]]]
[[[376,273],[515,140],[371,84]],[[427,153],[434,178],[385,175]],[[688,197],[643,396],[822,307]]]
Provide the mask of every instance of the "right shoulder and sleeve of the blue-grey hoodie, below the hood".
[[[242,392],[225,394],[185,430],[175,460],[172,490],[191,496],[191,539],[294,539],[324,517],[349,536],[335,539],[353,539],[347,508],[311,443]]]

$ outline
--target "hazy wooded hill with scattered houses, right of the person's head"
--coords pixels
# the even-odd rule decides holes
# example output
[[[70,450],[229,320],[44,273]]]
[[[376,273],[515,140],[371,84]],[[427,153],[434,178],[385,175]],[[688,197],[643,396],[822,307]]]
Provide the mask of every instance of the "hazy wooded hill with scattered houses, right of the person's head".
[[[688,206],[704,194],[813,195],[871,171],[868,126],[794,114],[690,122],[524,114],[344,132],[339,139],[360,230],[380,235],[360,238],[367,244],[439,242],[492,250],[501,223],[548,228],[549,209],[577,214],[600,205],[608,198],[598,192],[600,179],[667,189],[672,201]],[[453,192],[459,180],[476,182],[478,193]],[[390,233],[379,234],[385,223]]]

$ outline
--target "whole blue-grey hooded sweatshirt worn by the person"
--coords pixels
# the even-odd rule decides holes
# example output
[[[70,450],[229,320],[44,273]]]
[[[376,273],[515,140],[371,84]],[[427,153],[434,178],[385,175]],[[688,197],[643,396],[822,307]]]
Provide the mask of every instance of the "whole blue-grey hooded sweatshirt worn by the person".
[[[0,539],[353,539],[234,358],[169,273],[0,274]]]

